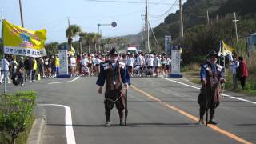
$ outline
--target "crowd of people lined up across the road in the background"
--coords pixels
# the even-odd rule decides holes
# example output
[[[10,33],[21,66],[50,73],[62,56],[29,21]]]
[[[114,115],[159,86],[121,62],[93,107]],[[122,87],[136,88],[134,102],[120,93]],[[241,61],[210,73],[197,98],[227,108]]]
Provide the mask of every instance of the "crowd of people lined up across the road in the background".
[[[100,63],[108,59],[107,54],[78,54],[68,58],[69,74],[77,76],[98,76]],[[170,74],[171,59],[166,54],[119,54],[119,62],[124,62],[131,77],[141,76],[166,76]],[[6,82],[15,85],[24,85],[24,82],[34,82],[40,78],[56,78],[60,71],[60,59],[58,54],[41,58],[5,55],[0,66],[3,82],[6,74]]]

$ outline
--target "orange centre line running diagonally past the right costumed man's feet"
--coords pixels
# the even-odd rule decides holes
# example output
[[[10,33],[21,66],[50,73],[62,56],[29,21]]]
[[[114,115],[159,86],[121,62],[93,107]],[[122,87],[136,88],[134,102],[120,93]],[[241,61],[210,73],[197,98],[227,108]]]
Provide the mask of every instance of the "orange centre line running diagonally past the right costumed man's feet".
[[[146,95],[146,97],[153,99],[154,102],[160,103],[162,106],[166,106],[166,107],[170,108],[171,110],[177,111],[179,114],[185,115],[187,118],[190,118],[190,119],[194,120],[195,122],[199,121],[199,119],[197,117],[195,117],[192,114],[187,113],[184,110],[179,109],[178,107],[171,106],[169,103],[166,103],[166,102],[162,102],[160,99],[155,98],[153,95],[148,94],[145,91],[140,90],[140,89],[138,89],[137,87],[135,87],[133,85],[131,85],[130,87],[133,88],[134,90],[138,91],[139,93]],[[248,141],[246,141],[246,140],[236,136],[235,134],[231,134],[230,132],[228,132],[226,130],[222,130],[218,126],[214,126],[214,125],[210,125],[209,124],[208,127],[210,127],[211,129],[217,131],[218,133],[225,134],[227,137],[232,138],[232,139],[234,139],[234,140],[236,140],[238,142],[242,142],[242,143],[246,143],[246,144],[252,144],[251,142],[248,142]]]

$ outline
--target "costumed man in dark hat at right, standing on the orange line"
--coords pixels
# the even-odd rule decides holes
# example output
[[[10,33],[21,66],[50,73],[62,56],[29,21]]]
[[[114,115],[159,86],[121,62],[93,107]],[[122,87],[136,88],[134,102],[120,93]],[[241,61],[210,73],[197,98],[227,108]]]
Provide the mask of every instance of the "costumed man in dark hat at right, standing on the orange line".
[[[207,62],[201,66],[200,78],[202,82],[202,88],[198,95],[199,110],[199,124],[203,124],[203,115],[206,110],[210,109],[209,124],[217,125],[214,121],[215,109],[220,103],[220,84],[226,82],[223,78],[222,66],[216,62],[218,60],[218,54],[213,50],[207,54]],[[207,100],[207,102],[206,102]]]

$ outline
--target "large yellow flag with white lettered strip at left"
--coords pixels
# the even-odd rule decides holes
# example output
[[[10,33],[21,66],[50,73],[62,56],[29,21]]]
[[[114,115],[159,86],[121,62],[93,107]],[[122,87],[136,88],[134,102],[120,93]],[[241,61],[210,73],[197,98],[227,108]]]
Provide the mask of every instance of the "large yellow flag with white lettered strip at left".
[[[24,55],[34,58],[46,55],[44,47],[46,29],[37,31],[27,30],[21,26],[15,26],[6,20],[2,21],[2,26],[5,54]]]

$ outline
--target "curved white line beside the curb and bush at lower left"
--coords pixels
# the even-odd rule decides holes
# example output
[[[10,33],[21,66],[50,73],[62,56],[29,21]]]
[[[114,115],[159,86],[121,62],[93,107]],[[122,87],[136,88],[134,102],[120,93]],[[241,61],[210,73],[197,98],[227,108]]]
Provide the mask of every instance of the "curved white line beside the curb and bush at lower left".
[[[74,130],[72,124],[71,109],[69,106],[58,104],[38,104],[38,106],[62,106],[65,108],[65,128],[66,128],[66,142],[67,144],[76,144],[74,138]]]

